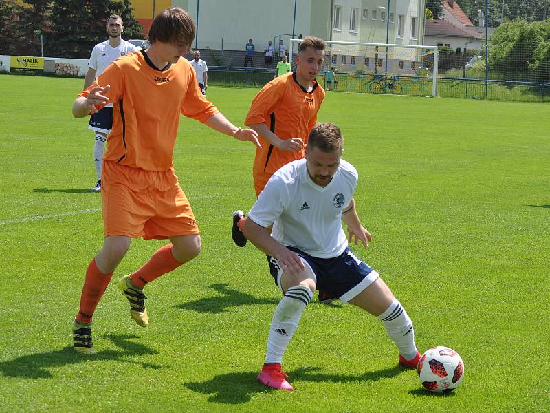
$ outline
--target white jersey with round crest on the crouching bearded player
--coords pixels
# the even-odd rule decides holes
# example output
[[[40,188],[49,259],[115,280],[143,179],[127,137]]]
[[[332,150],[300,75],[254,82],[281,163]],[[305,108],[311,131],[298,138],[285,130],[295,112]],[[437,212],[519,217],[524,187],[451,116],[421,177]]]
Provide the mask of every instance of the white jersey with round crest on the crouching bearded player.
[[[340,166],[326,187],[307,173],[306,160],[288,163],[270,178],[248,217],[267,228],[285,246],[294,246],[318,258],[333,258],[348,245],[342,229],[342,211],[350,204],[358,172],[349,162]]]

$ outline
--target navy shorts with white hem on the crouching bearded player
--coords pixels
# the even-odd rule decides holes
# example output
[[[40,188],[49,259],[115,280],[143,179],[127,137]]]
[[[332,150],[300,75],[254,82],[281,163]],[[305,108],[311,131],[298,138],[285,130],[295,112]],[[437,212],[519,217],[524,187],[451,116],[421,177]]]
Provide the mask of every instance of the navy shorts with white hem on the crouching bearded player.
[[[311,268],[318,290],[338,297],[344,304],[370,286],[380,275],[362,262],[349,248],[334,258],[311,257],[298,248],[287,247],[302,258],[305,266]],[[275,284],[281,288],[283,270],[276,258],[267,256],[270,273]]]

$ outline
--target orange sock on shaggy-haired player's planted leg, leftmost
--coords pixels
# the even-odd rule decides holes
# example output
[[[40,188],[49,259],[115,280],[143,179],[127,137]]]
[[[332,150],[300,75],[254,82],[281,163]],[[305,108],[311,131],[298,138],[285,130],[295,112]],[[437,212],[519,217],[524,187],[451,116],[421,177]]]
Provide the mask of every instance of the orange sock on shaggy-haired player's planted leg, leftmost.
[[[76,315],[76,321],[91,323],[91,317],[94,315],[103,293],[107,290],[111,277],[113,277],[113,273],[103,274],[99,271],[94,257],[86,270],[86,278],[80,296],[80,309]]]

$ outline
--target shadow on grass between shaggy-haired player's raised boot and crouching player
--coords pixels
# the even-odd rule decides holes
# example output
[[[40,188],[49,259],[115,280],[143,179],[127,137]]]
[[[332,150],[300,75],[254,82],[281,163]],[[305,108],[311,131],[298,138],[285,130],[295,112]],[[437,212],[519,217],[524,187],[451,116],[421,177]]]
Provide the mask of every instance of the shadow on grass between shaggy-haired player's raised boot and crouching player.
[[[251,306],[256,304],[278,304],[278,299],[258,298],[253,295],[241,293],[238,290],[227,288],[229,284],[211,284],[208,286],[222,295],[206,297],[197,301],[190,301],[174,306],[180,310],[193,310],[197,313],[225,313],[230,307]]]

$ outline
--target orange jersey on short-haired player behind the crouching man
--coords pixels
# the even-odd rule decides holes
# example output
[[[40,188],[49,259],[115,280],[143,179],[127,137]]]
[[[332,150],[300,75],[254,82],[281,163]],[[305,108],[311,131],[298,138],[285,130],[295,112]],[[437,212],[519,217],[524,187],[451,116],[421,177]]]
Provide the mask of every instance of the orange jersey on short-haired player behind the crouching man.
[[[324,98],[325,90],[316,81],[313,90],[307,92],[298,84],[294,72],[278,76],[267,83],[252,100],[245,125],[265,123],[280,139],[302,138],[307,143],[309,131],[317,122],[317,112]],[[304,157],[303,151],[281,151],[262,137],[260,142],[262,147],[256,148],[254,158],[254,180],[259,178],[267,182],[277,169]]]

